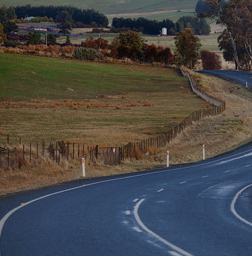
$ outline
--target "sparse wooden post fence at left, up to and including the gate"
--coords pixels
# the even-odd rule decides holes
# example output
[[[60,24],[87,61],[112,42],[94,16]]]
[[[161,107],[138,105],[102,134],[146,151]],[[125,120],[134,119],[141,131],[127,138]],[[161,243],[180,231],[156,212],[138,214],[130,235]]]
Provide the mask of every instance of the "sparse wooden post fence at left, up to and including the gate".
[[[7,135],[7,143],[10,137]],[[21,138],[19,139],[19,142]],[[65,143],[65,141],[50,142],[47,146],[45,141],[41,143],[21,144],[17,148],[0,146],[0,168],[21,167],[24,162],[33,162],[40,158],[50,158],[52,162],[60,164],[62,160],[79,160],[85,158],[89,162],[101,164],[120,164],[121,148],[108,147],[99,149],[99,146],[88,146],[83,143]]]

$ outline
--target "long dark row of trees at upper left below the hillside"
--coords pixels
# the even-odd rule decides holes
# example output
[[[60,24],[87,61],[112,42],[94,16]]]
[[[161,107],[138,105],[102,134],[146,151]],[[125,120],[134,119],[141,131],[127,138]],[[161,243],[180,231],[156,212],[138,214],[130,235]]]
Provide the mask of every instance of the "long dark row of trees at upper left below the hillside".
[[[108,26],[108,18],[106,15],[99,13],[99,11],[95,11],[93,9],[79,9],[73,6],[32,6],[32,5],[23,5],[15,7],[15,15],[17,18],[24,18],[26,15],[28,16],[38,16],[38,17],[48,17],[56,19],[56,16],[61,11],[68,11],[71,17],[73,18],[73,22],[82,22],[83,24],[91,24],[91,22],[95,22],[97,26],[107,27]]]

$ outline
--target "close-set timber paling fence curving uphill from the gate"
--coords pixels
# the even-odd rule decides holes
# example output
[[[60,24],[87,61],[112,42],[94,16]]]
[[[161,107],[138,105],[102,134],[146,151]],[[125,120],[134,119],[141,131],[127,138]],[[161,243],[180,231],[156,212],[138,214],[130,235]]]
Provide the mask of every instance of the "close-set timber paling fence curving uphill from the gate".
[[[163,148],[165,146],[168,146],[169,143],[171,143],[171,141],[176,139],[176,137],[180,133],[182,133],[184,129],[190,127],[190,125],[192,125],[193,122],[200,121],[205,117],[219,115],[223,113],[223,111],[226,109],[226,104],[224,101],[218,100],[217,98],[214,98],[213,96],[206,94],[205,92],[200,90],[200,88],[196,88],[193,79],[190,76],[190,73],[184,71],[182,67],[179,67],[179,69],[182,75],[188,77],[188,79],[190,80],[192,91],[204,100],[206,100],[207,102],[213,104],[214,107],[194,111],[194,113],[192,113],[189,117],[183,119],[181,123],[171,128],[169,131],[162,133],[161,135],[151,137],[149,139],[144,139],[142,141],[129,142],[127,145],[122,146],[122,160],[125,160],[127,158],[137,158],[139,154],[148,154],[151,148]]]

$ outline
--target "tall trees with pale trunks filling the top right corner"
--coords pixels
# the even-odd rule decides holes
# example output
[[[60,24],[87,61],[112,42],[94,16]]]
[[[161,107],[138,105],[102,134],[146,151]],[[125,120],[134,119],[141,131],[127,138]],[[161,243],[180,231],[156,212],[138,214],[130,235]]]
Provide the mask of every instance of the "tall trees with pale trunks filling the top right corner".
[[[208,9],[199,17],[211,18],[226,27],[218,38],[220,50],[226,61],[235,63],[237,69],[252,69],[252,1],[206,0]]]

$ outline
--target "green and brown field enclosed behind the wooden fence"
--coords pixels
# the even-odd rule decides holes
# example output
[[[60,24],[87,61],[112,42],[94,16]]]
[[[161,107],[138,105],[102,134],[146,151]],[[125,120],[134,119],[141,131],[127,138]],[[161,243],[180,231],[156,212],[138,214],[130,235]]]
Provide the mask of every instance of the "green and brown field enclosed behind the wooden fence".
[[[0,143],[99,146],[159,135],[208,107],[176,69],[1,54]]]

